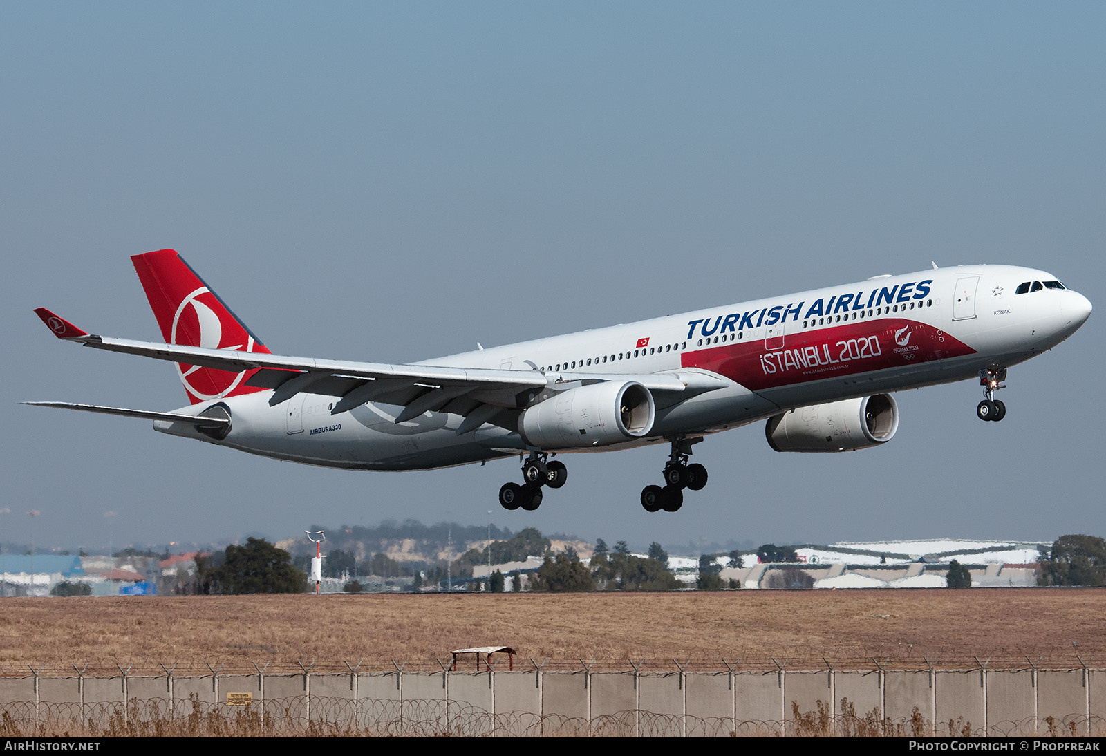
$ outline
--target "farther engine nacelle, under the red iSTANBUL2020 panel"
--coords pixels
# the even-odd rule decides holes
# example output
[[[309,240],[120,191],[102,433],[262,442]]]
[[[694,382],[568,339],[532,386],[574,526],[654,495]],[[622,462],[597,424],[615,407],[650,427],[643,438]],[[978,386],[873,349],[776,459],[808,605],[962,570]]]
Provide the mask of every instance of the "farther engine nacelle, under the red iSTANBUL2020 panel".
[[[769,418],[768,443],[776,451],[835,452],[867,449],[891,440],[898,405],[889,393],[800,407]]]

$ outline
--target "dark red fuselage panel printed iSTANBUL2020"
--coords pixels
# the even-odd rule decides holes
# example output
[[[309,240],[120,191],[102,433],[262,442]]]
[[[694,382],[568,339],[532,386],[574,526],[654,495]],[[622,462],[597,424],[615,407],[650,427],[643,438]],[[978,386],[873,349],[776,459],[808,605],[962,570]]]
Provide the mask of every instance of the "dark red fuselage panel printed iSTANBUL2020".
[[[712,345],[685,351],[680,360],[757,391],[971,354],[975,350],[931,325],[886,318]]]

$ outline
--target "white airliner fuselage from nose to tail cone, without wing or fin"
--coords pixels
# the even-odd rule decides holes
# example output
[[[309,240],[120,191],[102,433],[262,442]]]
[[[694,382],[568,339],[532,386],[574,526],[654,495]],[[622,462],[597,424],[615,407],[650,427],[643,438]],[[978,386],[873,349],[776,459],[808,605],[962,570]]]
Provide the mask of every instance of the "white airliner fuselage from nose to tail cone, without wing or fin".
[[[783,411],[853,397],[974,378],[1024,361],[1071,336],[1091,304],[1043,271],[967,265],[883,276],[844,286],[712,307],[628,325],[541,338],[419,365],[540,371],[551,387],[588,378],[709,377],[720,388],[658,396],[647,437],[605,451],[713,433]],[[721,377],[721,382],[719,378]],[[425,412],[396,423],[400,408],[367,402],[331,414],[333,396],[271,391],[221,399],[233,418],[215,441],[179,423],[175,434],[307,464],[372,470],[441,468],[532,450],[520,433],[483,424],[458,434],[463,417]],[[179,410],[198,414],[212,403]],[[542,451],[564,451],[543,449]],[[582,451],[576,449],[575,451]]]

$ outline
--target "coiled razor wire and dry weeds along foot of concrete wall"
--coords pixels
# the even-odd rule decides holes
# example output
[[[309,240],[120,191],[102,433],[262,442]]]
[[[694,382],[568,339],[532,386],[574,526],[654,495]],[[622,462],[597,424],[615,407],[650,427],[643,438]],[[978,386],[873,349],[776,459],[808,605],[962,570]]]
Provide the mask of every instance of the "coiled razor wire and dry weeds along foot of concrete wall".
[[[856,714],[847,701],[841,714],[793,705],[787,720],[735,720],[627,710],[586,720],[562,714],[492,713],[457,701],[417,699],[353,701],[330,696],[269,699],[248,706],[199,701],[132,700],[123,703],[15,701],[0,710],[0,737],[319,737],[319,736],[842,736],[972,737],[1106,735],[1106,718],[1027,717],[978,726],[963,717],[931,722],[916,708],[911,717]]]

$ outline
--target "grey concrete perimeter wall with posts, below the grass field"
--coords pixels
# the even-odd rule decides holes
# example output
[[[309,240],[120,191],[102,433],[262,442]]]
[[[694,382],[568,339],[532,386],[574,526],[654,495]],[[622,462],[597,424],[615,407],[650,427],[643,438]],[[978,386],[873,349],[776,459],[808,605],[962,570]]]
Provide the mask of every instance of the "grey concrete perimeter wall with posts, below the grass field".
[[[321,671],[254,665],[0,670],[0,736],[1106,735],[1106,666],[692,670],[654,663],[432,660]],[[471,660],[469,660],[471,665]],[[530,669],[518,669],[523,665]],[[618,669],[618,668],[622,669]],[[705,666],[700,663],[698,666]],[[49,673],[46,673],[49,672]]]

